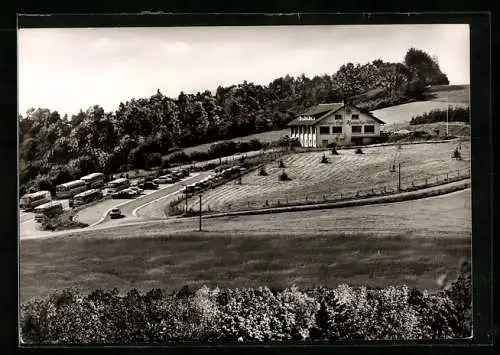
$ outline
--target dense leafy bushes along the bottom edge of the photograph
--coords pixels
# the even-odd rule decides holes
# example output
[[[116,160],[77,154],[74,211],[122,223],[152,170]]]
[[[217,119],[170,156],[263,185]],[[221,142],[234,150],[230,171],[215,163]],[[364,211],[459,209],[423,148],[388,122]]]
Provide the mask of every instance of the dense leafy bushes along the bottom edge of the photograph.
[[[21,309],[26,343],[315,342],[464,338],[470,277],[437,294],[407,287],[154,289],[120,296],[74,289]]]

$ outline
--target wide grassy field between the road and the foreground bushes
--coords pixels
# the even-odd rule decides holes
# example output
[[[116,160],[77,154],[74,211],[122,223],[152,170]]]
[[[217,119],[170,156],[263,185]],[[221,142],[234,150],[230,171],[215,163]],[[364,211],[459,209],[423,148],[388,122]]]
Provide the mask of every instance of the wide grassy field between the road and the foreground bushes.
[[[470,190],[396,204],[156,222],[21,241],[21,302],[57,289],[184,285],[435,290],[470,258]]]

